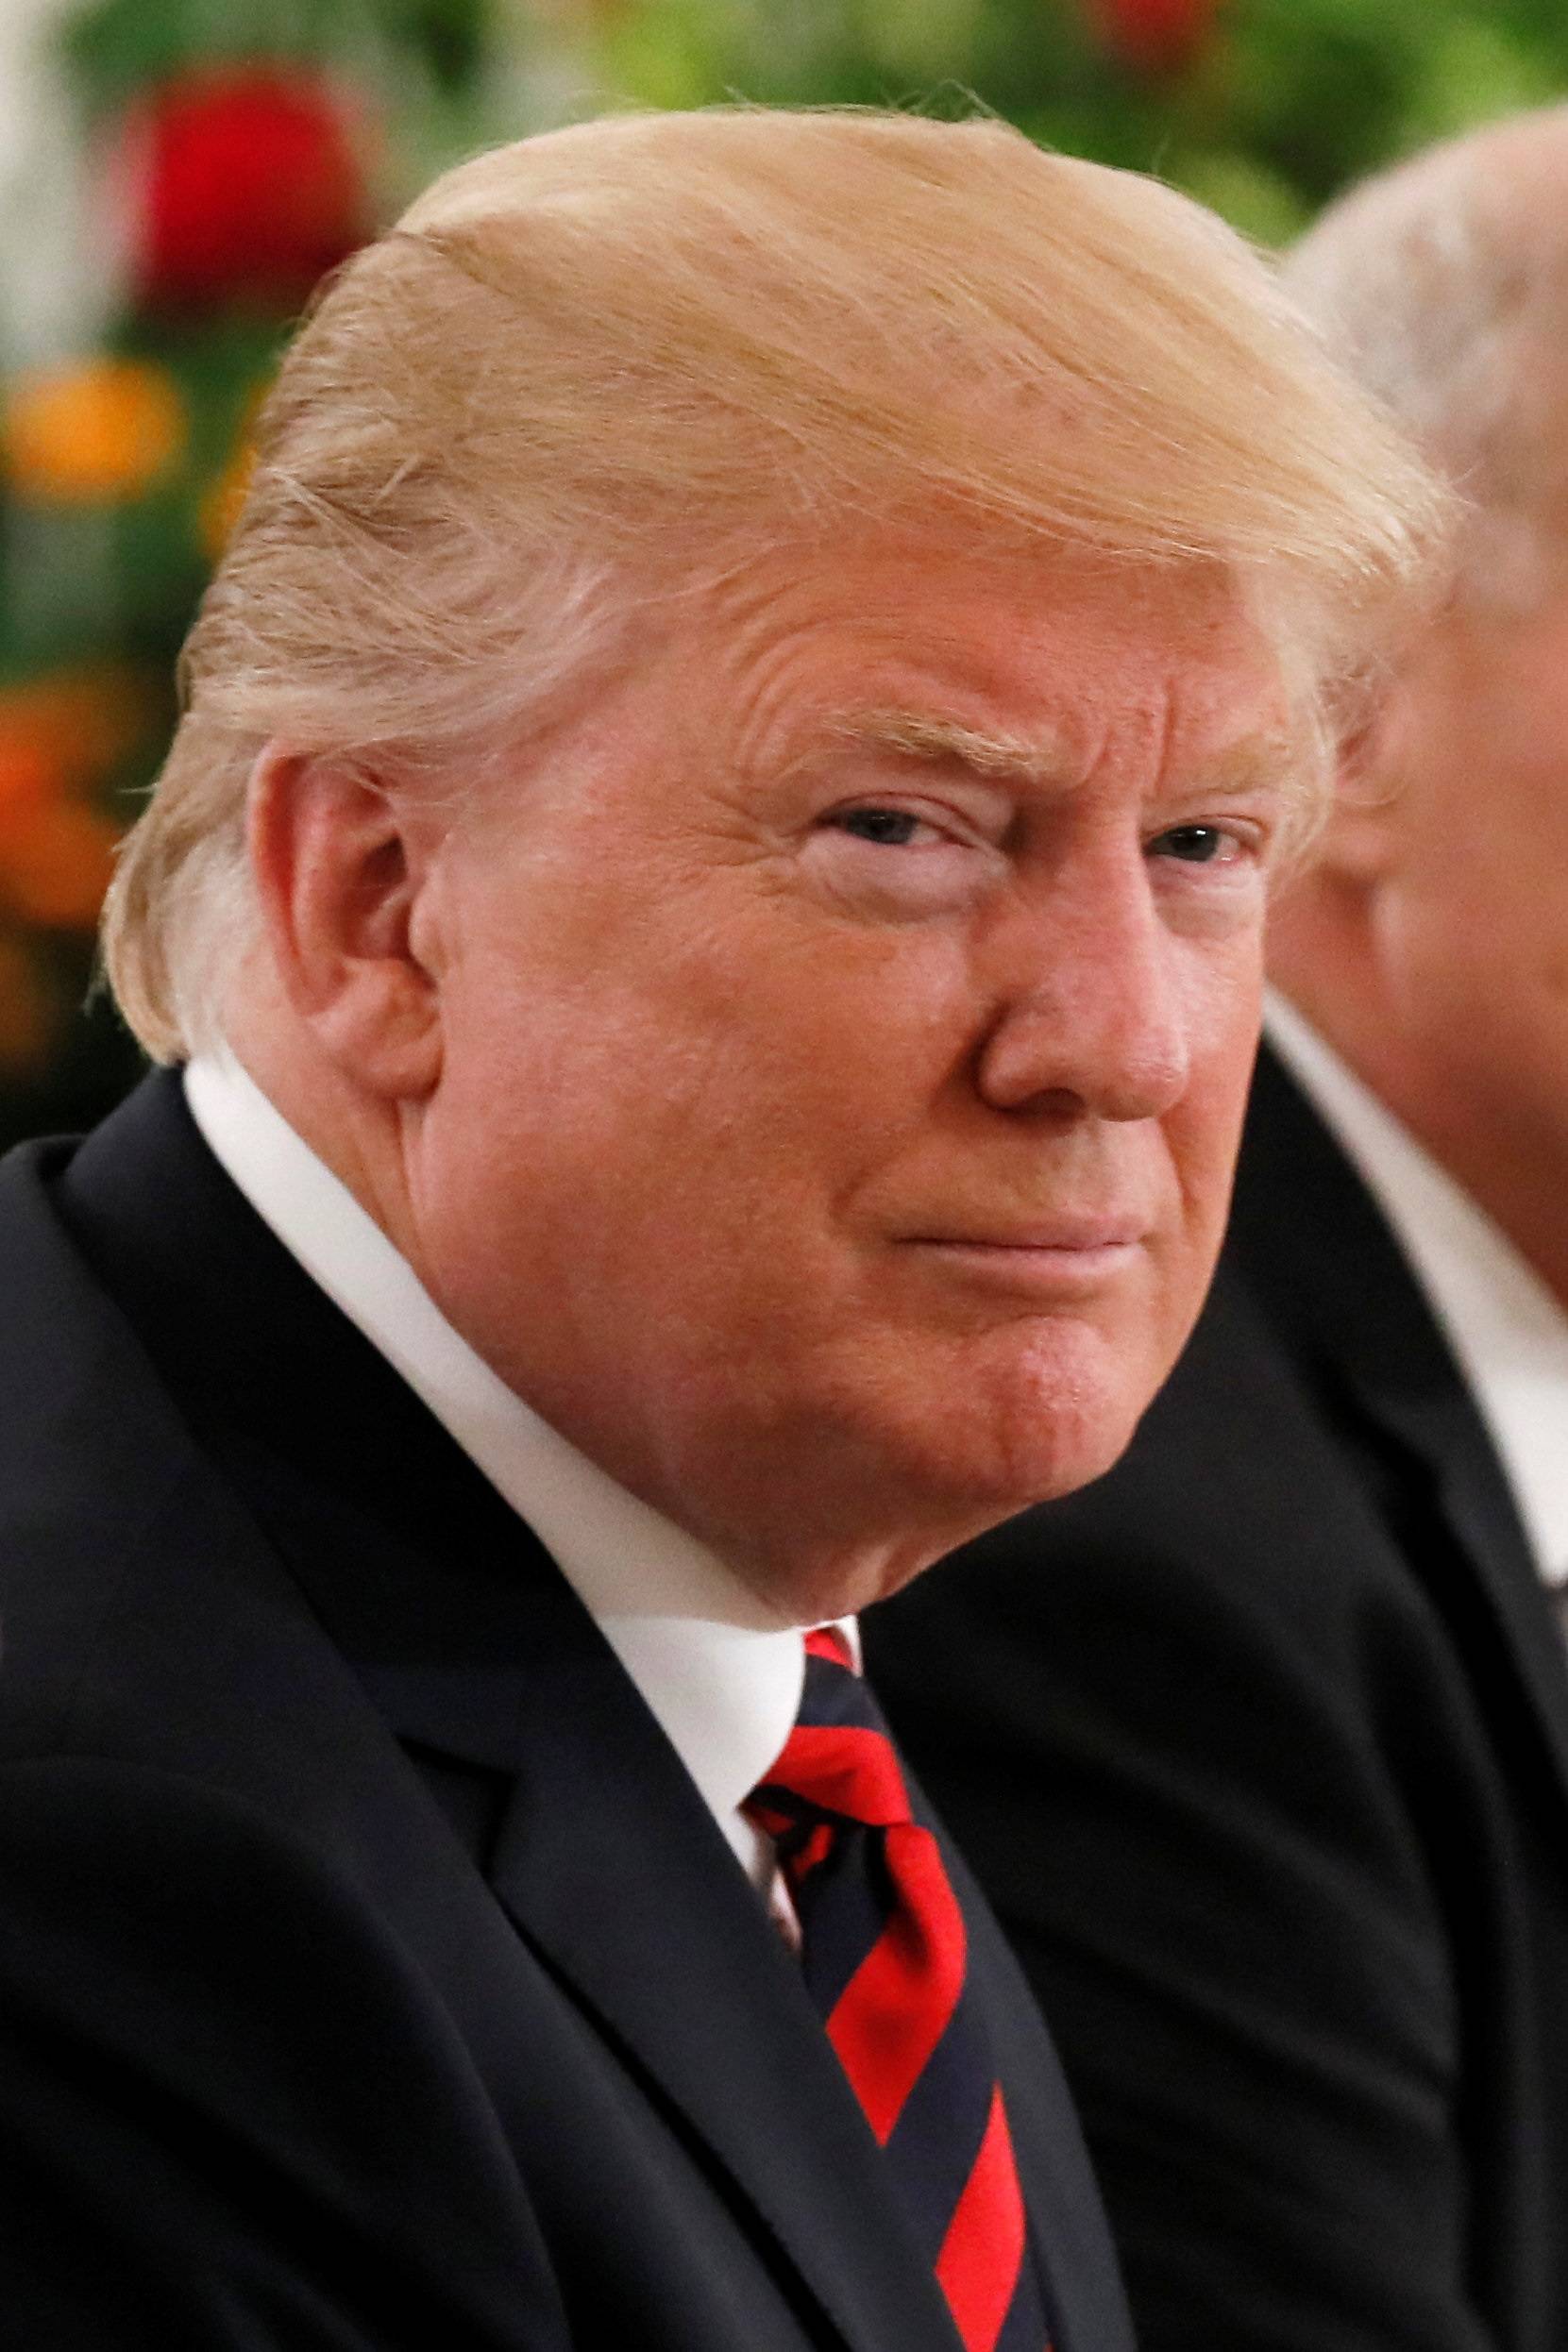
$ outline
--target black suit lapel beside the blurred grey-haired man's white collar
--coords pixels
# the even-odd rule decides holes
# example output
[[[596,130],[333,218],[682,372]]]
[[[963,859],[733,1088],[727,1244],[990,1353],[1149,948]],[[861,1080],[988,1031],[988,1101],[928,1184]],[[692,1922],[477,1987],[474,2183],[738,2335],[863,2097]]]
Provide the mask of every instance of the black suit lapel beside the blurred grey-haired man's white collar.
[[[1288,1202],[1288,1214],[1279,1204]],[[1465,1639],[1500,1646],[1568,1804],[1568,1668],[1507,1477],[1460,1369],[1375,1200],[1281,1063],[1265,1051],[1227,1254],[1272,1319],[1425,1482],[1469,1569],[1443,1590],[1441,1545],[1413,1545]],[[1427,1557],[1427,1552],[1432,1557]],[[1418,1557],[1420,1555],[1420,1557]],[[1476,1602],[1481,1609],[1476,1611]]]

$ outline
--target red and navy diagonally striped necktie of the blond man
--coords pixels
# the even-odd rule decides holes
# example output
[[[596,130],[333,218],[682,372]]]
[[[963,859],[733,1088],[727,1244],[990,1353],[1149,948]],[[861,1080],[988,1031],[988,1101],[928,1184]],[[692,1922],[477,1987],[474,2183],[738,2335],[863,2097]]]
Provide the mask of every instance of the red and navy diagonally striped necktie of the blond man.
[[[830,1630],[748,1811],[778,1844],[806,1990],[853,2084],[964,2352],[1048,2352],[1001,2084],[964,1915],[910,1816],[877,1700]]]

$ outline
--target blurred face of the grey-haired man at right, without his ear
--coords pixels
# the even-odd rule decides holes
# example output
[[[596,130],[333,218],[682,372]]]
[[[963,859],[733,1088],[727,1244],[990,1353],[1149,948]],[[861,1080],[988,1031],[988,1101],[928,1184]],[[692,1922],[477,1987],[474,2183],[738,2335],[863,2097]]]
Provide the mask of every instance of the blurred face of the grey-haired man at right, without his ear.
[[[1385,823],[1394,1108],[1540,1258],[1568,1188],[1568,593],[1432,635]]]

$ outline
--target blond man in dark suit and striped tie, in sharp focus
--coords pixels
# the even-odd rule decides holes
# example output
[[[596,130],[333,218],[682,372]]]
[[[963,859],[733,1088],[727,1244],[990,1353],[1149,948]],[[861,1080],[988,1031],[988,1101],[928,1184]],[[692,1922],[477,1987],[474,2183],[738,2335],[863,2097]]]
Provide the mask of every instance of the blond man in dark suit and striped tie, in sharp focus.
[[[1124,2352],[839,1621],[1180,1348],[1441,510],[987,122],[585,125],[327,292],[108,915],[169,1068],[0,1181],[19,2345]]]

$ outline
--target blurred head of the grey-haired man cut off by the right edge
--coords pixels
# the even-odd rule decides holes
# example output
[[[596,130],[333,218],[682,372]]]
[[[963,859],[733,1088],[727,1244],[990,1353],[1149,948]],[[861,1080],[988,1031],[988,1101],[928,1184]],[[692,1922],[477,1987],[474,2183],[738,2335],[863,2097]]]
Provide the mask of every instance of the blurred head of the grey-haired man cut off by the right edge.
[[[1269,964],[1568,1305],[1568,106],[1352,191],[1284,275],[1465,503]]]

